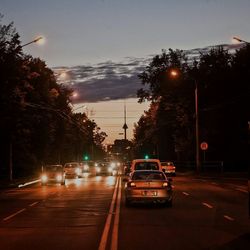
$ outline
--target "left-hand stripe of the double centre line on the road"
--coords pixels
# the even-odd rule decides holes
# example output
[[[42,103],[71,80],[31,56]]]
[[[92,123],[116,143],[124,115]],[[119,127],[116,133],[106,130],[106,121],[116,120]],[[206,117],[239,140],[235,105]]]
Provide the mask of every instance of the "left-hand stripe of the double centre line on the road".
[[[112,197],[112,201],[111,201],[111,205],[110,205],[110,208],[109,208],[109,213],[108,213],[108,216],[107,216],[107,219],[106,219],[106,223],[105,223],[105,226],[104,226],[104,230],[103,230],[103,233],[102,233],[102,237],[101,237],[101,241],[100,241],[98,250],[105,250],[106,249],[109,229],[110,229],[110,226],[111,226],[111,219],[112,219],[112,215],[114,213],[115,201],[116,201],[116,197],[117,197],[118,183],[119,183],[119,179],[117,178],[114,193],[113,193],[113,197]]]

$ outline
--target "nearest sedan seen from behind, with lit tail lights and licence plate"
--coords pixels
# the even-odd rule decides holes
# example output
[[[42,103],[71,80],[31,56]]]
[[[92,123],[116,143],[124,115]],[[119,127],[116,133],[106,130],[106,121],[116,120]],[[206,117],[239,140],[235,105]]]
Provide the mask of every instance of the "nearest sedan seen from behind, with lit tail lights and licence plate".
[[[172,206],[172,200],[171,179],[168,179],[163,171],[134,171],[125,184],[127,206],[132,202],[158,202]]]

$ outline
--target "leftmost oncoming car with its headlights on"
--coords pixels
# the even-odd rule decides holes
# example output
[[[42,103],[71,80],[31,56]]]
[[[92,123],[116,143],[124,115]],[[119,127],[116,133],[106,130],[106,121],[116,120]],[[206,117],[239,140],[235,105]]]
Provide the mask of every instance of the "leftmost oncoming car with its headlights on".
[[[46,165],[42,168],[42,185],[60,183],[65,185],[65,172],[62,165]]]

